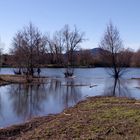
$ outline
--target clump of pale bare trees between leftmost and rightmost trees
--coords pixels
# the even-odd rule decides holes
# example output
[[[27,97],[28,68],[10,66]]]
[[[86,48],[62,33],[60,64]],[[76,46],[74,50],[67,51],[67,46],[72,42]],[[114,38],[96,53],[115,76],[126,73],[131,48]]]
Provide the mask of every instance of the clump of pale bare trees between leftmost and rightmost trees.
[[[73,75],[75,61],[74,52],[80,48],[84,41],[84,33],[80,32],[76,26],[70,29],[65,25],[61,30],[56,31],[53,37],[47,37],[47,46],[51,64],[64,65],[66,74]]]

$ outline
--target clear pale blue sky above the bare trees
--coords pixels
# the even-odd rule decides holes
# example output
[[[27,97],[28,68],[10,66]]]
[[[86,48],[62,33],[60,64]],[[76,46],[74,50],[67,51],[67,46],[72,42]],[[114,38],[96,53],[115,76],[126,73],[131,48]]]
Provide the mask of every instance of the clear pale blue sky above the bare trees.
[[[83,48],[98,46],[111,20],[126,47],[140,47],[140,0],[0,0],[0,38],[9,50],[15,33],[32,22],[43,33],[76,25],[88,39]]]

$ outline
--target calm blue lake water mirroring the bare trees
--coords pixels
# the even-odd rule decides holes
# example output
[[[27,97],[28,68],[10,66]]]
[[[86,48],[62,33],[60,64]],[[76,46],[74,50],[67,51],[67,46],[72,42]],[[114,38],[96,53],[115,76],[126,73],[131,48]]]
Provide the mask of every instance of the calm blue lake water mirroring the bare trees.
[[[103,68],[75,69],[75,78],[64,78],[65,69],[42,69],[49,76],[43,85],[11,84],[0,87],[0,127],[23,123],[35,116],[62,112],[90,96],[122,96],[140,99],[140,69],[130,68],[117,82]],[[0,74],[13,74],[3,68]]]

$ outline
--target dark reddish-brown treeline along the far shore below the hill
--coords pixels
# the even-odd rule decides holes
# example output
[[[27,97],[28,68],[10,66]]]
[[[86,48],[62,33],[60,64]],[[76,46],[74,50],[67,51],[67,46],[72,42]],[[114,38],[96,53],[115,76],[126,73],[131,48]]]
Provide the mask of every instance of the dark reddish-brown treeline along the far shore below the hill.
[[[106,60],[102,59],[100,48],[94,49],[81,49],[74,52],[74,64],[76,68],[93,68],[93,67],[106,67]],[[140,50],[134,52],[131,49],[126,49],[124,52],[126,60],[124,67],[140,67]],[[42,68],[65,68],[66,67],[66,54],[53,54],[46,53],[42,56],[40,67]],[[18,60],[15,61],[15,56],[11,54],[2,54],[1,67],[19,67]]]

